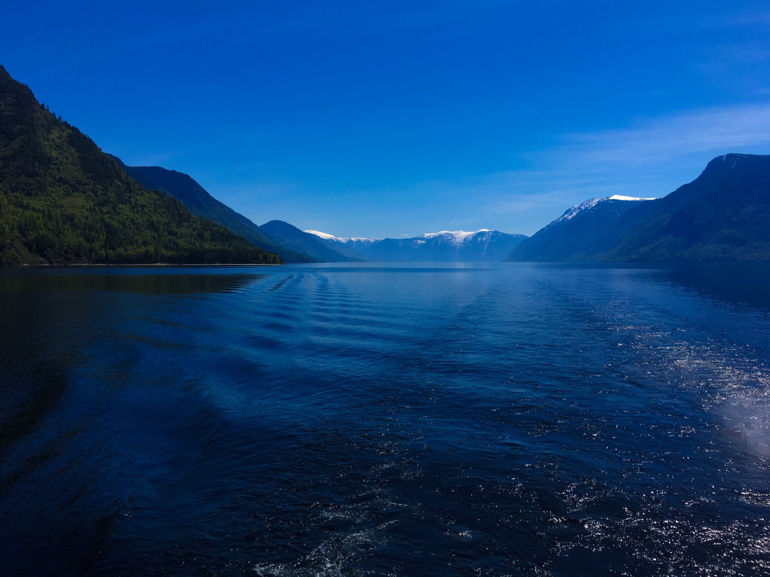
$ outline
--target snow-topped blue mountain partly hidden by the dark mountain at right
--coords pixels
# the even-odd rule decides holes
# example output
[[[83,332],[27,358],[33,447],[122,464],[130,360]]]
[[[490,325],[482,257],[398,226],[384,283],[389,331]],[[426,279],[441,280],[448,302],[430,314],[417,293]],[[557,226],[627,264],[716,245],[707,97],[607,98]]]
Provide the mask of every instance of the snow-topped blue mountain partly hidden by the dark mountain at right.
[[[654,198],[614,195],[591,198],[567,209],[563,215],[525,238],[505,258],[507,261],[564,262],[584,260],[593,254],[609,228],[624,212]]]

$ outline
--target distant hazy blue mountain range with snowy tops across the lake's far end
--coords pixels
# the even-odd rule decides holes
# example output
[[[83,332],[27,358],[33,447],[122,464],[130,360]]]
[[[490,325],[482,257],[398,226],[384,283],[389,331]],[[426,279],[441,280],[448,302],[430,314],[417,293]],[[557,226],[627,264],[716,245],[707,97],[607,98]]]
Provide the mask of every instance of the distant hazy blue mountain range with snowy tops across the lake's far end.
[[[363,257],[379,262],[501,261],[524,238],[494,230],[430,232],[414,238],[336,238],[325,232],[314,235],[355,248]]]

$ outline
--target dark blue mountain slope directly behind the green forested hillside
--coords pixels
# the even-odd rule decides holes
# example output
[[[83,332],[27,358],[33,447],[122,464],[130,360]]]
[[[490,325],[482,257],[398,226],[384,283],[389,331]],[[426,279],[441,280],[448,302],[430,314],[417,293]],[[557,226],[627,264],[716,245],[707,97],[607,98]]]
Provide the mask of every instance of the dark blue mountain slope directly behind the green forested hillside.
[[[235,212],[233,208],[219,202],[192,176],[160,166],[127,166],[117,156],[112,156],[112,158],[140,185],[149,188],[149,190],[159,190],[173,196],[182,202],[193,215],[204,216],[226,226],[236,235],[241,235],[249,240],[253,245],[277,253],[285,262],[313,262],[313,258],[273,242],[259,226]]]

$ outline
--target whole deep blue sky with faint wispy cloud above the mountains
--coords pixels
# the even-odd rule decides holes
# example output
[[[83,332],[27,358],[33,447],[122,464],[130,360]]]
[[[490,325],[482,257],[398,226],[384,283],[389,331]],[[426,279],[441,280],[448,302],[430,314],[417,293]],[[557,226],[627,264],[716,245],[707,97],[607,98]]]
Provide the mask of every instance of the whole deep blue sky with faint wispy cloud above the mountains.
[[[13,2],[0,63],[258,224],[531,234],[770,154],[768,2]]]

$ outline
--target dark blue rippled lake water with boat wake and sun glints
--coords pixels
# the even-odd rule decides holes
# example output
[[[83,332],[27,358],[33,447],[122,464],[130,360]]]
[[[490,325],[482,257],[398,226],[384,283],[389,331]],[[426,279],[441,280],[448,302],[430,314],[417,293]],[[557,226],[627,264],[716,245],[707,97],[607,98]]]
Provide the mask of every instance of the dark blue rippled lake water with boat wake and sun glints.
[[[0,272],[3,575],[767,575],[770,268]]]

